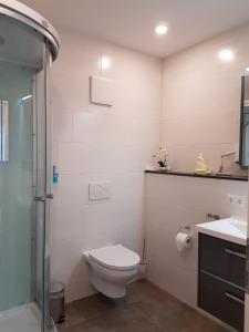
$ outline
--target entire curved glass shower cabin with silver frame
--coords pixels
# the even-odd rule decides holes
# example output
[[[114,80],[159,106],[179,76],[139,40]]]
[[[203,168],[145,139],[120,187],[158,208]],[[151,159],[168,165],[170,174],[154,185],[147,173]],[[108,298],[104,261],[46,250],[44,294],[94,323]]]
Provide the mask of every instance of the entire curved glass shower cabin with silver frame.
[[[0,0],[0,331],[53,329],[49,310],[50,66],[58,34]]]

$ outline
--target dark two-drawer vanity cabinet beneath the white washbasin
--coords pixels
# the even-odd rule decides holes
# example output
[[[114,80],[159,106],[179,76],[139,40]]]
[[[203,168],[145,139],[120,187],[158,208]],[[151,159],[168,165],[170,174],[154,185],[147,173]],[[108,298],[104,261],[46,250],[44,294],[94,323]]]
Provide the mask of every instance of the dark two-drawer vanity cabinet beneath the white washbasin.
[[[243,331],[246,247],[199,234],[198,307]]]

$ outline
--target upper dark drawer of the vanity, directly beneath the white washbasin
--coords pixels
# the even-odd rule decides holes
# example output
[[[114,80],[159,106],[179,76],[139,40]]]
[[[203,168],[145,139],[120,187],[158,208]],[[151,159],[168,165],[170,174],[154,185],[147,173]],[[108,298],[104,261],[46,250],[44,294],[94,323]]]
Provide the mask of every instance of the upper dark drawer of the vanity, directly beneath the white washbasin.
[[[246,247],[199,234],[199,270],[245,287]]]

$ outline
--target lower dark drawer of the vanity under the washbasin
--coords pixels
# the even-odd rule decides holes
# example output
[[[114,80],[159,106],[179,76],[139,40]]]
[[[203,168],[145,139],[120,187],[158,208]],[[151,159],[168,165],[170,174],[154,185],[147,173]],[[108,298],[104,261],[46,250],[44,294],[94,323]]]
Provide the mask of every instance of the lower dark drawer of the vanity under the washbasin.
[[[245,292],[204,272],[199,279],[199,308],[243,331]]]

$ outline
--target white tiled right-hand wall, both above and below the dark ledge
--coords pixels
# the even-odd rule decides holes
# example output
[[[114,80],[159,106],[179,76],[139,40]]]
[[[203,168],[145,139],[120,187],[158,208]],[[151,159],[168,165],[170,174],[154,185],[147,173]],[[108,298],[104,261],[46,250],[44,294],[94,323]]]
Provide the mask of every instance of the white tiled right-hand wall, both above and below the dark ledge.
[[[203,152],[217,172],[220,155],[238,149],[240,77],[249,65],[248,33],[246,25],[164,61],[160,145],[167,146],[175,170],[193,172],[197,154]],[[234,50],[231,63],[218,59],[222,48]],[[227,169],[231,164],[234,158],[227,158]],[[248,184],[146,175],[148,279],[191,307],[197,304],[197,236],[194,247],[183,253],[176,250],[175,236],[181,225],[207,221],[207,212],[247,219],[247,206],[229,206],[227,194],[248,197]]]

